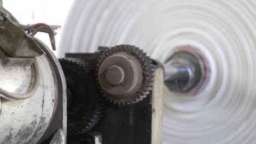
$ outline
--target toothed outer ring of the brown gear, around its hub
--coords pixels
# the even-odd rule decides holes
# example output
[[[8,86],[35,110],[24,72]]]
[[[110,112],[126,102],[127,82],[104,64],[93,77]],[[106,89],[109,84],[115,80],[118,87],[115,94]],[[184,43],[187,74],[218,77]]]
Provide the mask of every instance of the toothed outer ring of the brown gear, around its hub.
[[[135,56],[139,62],[141,62],[142,69],[143,69],[143,85],[141,86],[140,92],[138,92],[136,95],[133,95],[130,98],[127,99],[114,99],[112,97],[109,97],[103,89],[101,88],[100,82],[98,82],[97,74],[98,69],[100,68],[101,63],[108,58],[109,56],[113,55],[113,53],[116,52],[127,52],[130,55]],[[103,54],[98,59],[97,68],[96,68],[96,80],[98,88],[100,89],[100,92],[102,93],[103,97],[105,97],[107,100],[114,104],[118,105],[125,105],[125,104],[134,104],[138,101],[143,100],[143,98],[147,97],[147,94],[149,94],[152,90],[153,82],[154,82],[154,67],[152,65],[152,60],[147,56],[147,53],[143,52],[143,50],[140,50],[138,47],[133,45],[116,45],[114,47],[111,47],[107,52],[103,52]]]

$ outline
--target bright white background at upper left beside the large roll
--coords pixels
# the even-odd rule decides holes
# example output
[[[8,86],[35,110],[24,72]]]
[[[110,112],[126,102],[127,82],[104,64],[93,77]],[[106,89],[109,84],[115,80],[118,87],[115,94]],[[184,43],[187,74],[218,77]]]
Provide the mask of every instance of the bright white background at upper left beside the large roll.
[[[24,25],[46,23],[48,25],[63,26],[73,1],[74,0],[3,0],[3,7]],[[56,47],[59,47],[61,29],[57,29],[56,32]],[[51,49],[48,34],[37,33],[36,37],[42,40]]]

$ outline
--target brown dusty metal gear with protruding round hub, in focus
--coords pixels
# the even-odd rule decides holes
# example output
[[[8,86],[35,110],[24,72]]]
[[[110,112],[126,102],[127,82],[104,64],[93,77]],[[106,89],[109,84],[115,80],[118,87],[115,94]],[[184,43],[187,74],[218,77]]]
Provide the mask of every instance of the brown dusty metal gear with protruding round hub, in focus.
[[[154,68],[143,50],[117,45],[102,52],[96,69],[97,85],[114,104],[134,104],[152,90]]]

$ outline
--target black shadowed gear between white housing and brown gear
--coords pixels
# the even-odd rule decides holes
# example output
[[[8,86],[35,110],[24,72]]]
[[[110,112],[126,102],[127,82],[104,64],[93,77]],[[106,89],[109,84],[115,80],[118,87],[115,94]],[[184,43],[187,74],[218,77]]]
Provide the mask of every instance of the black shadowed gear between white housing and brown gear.
[[[84,134],[95,127],[104,112],[96,88],[95,68],[79,58],[59,59],[67,80],[67,135]]]

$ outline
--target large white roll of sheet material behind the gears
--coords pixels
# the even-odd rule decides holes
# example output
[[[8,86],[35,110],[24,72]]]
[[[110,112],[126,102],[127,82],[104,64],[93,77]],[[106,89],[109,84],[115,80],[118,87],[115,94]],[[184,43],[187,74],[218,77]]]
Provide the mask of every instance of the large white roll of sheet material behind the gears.
[[[165,63],[177,47],[207,59],[199,92],[165,87],[163,143],[255,143],[256,1],[74,1],[58,56],[136,45]]]

